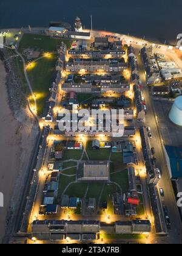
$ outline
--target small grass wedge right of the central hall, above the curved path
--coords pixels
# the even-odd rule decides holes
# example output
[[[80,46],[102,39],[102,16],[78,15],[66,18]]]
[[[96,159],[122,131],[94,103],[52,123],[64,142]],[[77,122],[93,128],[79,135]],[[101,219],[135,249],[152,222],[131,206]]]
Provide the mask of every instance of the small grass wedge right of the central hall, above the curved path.
[[[127,169],[121,172],[111,174],[110,179],[112,182],[118,183],[121,186],[123,193],[126,193],[129,189],[129,179]]]

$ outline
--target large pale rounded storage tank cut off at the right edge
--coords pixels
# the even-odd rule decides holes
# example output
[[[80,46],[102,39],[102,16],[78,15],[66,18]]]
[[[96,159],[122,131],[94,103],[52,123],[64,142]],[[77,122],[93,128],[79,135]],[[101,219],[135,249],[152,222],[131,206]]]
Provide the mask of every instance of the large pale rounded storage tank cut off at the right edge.
[[[175,99],[175,102],[169,112],[169,118],[172,123],[182,126],[182,96]]]

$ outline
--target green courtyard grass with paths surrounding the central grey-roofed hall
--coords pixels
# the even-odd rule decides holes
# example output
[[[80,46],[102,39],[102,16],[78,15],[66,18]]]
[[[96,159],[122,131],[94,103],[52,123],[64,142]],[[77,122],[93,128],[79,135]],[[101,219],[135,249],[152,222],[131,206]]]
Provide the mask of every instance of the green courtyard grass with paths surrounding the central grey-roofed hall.
[[[69,177],[60,175],[58,197],[62,195],[62,192],[68,186],[64,194],[70,197],[79,197],[81,199],[84,197],[86,197],[86,199],[93,197],[96,199],[97,207],[101,202],[107,201],[108,211],[110,215],[112,215],[112,194],[115,192],[123,194],[129,189],[127,166],[123,165],[122,162],[123,155],[122,153],[111,153],[111,149],[94,151],[92,149],[92,141],[87,142],[86,151],[89,160],[109,160],[110,158],[110,182],[75,182],[70,184],[76,180],[76,161],[81,159],[83,151],[66,150],[64,151],[63,161],[69,161],[63,163],[62,173],[75,176]],[[86,153],[84,153],[82,160],[87,160]]]

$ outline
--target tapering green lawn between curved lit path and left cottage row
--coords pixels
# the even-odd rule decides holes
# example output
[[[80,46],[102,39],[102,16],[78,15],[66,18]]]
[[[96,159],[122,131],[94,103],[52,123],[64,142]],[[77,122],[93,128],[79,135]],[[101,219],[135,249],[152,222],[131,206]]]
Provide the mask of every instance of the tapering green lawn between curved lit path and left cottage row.
[[[49,88],[55,72],[56,60],[56,55],[52,55],[52,58],[41,59],[35,63],[34,68],[27,69],[30,84],[36,96],[38,115],[43,112],[45,101],[50,94]]]

